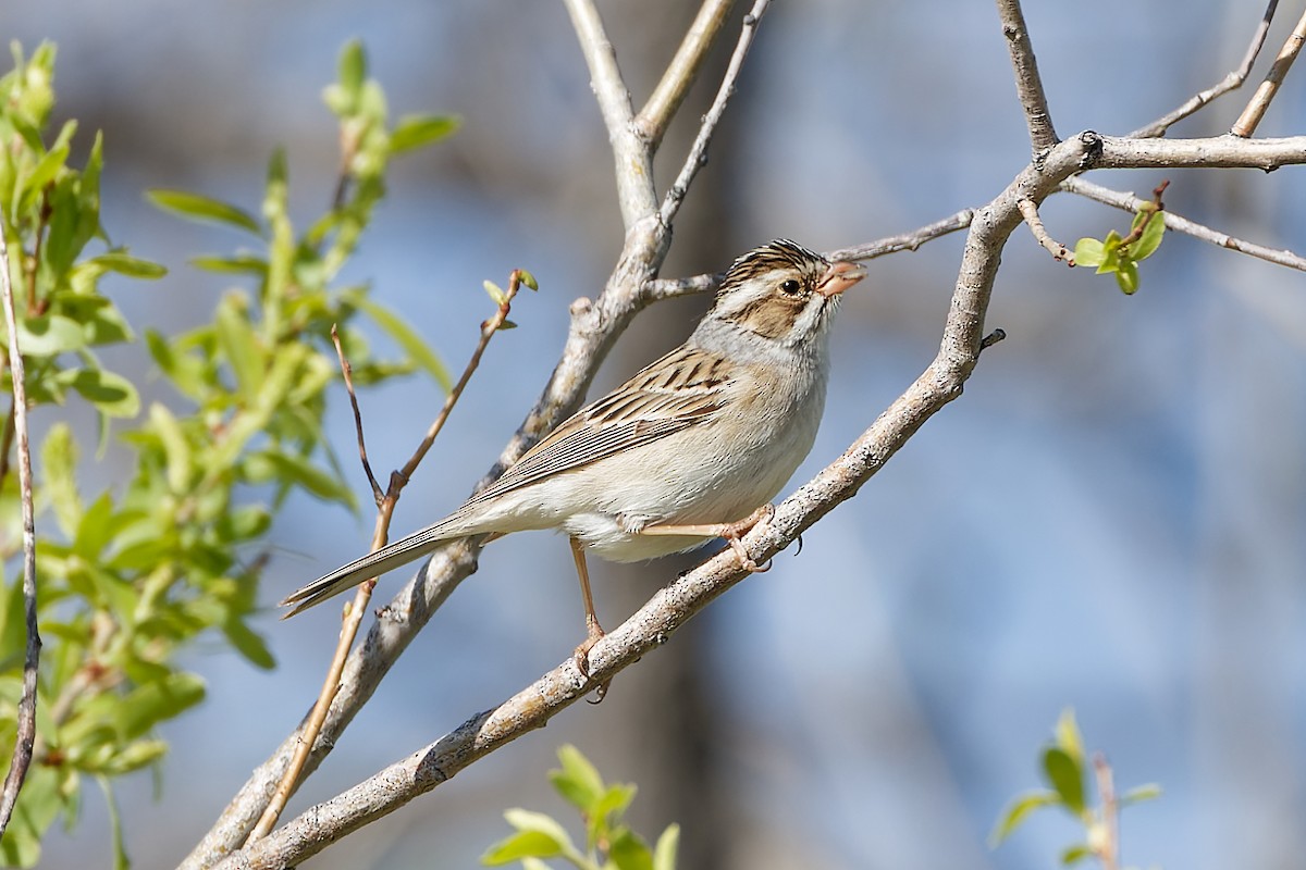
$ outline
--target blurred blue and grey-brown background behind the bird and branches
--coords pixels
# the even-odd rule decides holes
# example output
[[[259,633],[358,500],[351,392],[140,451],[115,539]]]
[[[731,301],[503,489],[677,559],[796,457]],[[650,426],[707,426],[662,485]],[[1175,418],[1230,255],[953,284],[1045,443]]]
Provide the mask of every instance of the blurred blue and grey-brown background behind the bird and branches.
[[[1028,4],[1058,132],[1124,133],[1233,69],[1262,4],[1104,0],[1085,16]],[[1290,8],[1288,8],[1290,7]],[[605,0],[636,102],[671,56],[693,4]],[[1298,16],[1285,4],[1254,80]],[[735,10],[735,21],[743,8]],[[559,3],[286,0],[217,4],[18,0],[0,33],[59,44],[57,119],[106,140],[103,220],[162,261],[162,283],[110,293],[137,327],[205,320],[226,286],[185,258],[230,233],[151,210],[142,190],[185,188],[257,207],[272,149],[287,147],[293,202],[316,214],[337,170],[320,89],[351,37],[394,115],[457,112],[462,130],[401,159],[350,267],[452,369],[490,310],[483,279],[516,266],[541,292],[515,307],[394,520],[406,533],[456,507],[551,370],[567,305],[598,292],[620,247],[607,137]],[[691,94],[662,160],[679,166],[737,25]],[[1306,132],[1306,70],[1258,130]],[[1225,98],[1174,136],[1228,129]],[[677,224],[663,275],[716,271],[774,236],[833,249],[916,228],[995,196],[1029,159],[991,4],[821,0],[776,4]],[[1306,252],[1306,173],[1285,168],[1096,173],[1273,247]],[[1126,231],[1128,217],[1059,196],[1049,231]],[[302,218],[304,219],[304,218]],[[836,457],[932,359],[963,236],[874,261],[835,333],[832,393],[793,485]],[[682,867],[1045,867],[1076,835],[1036,817],[998,850],[986,836],[1033,788],[1066,706],[1122,788],[1165,796],[1128,809],[1130,863],[1301,866],[1306,853],[1306,279],[1171,235],[1123,296],[1067,270],[1019,230],[1003,257],[989,351],[948,406],[774,570],[714,603],[577,704],[313,867],[471,867],[526,806],[572,822],[546,771],[563,742],[640,787],[633,823],[683,827]],[[705,300],[640,316],[597,394],[679,343]],[[377,342],[384,340],[377,337]],[[148,367],[142,347],[111,361]],[[174,400],[155,389],[155,395]],[[397,467],[439,408],[426,380],[364,398],[370,455]],[[353,450],[343,393],[337,449]],[[107,471],[104,473],[108,473]],[[379,472],[380,473],[380,472]],[[362,473],[359,492],[366,490]],[[138,867],[172,866],[317,691],[338,609],[278,622],[287,591],[360,554],[371,522],[310,498],[289,511],[263,592],[278,659],[260,672],[219,642],[189,667],[200,708],[167,728],[161,794],[119,792]],[[692,561],[598,563],[599,613],[616,625]],[[380,601],[402,578],[380,586]],[[546,533],[490,547],[346,732],[290,815],[516,693],[580,639],[567,545]],[[107,813],[89,789],[46,866],[108,866]]]

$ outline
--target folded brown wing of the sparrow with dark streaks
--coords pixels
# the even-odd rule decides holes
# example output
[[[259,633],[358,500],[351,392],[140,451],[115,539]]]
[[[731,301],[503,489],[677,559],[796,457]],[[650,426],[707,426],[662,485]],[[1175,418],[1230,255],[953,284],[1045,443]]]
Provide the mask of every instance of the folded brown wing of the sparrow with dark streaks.
[[[717,353],[695,347],[671,351],[577,411],[471,502],[582,468],[710,419],[725,403],[729,372]]]

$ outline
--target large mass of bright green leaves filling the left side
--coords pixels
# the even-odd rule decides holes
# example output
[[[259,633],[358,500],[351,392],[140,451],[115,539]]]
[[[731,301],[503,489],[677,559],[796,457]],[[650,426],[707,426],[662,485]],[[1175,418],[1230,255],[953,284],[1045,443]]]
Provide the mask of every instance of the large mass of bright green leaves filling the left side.
[[[273,657],[249,626],[266,561],[260,550],[278,509],[295,492],[354,506],[341,463],[323,433],[326,390],[337,374],[330,343],[338,326],[355,382],[375,383],[422,369],[448,378],[439,357],[363,286],[336,287],[340,269],[385,193],[389,158],[452,132],[452,119],[388,127],[384,95],[366,77],[362,47],[349,46],[341,83],[328,89],[342,141],[354,142],[337,196],[307,230],[293,224],[283,154],[273,155],[256,218],[205,196],[155,190],[155,205],[217,222],[249,243],[197,257],[196,267],[243,282],[222,296],[209,322],[145,346],[172,404],[141,412],[137,387],[107,372],[91,348],[131,343],[135,334],[102,295],[107,273],[158,278],[161,266],[114,247],[99,222],[102,138],[81,170],[69,166],[76,121],[50,145],[52,46],[0,78],[0,209],[18,296],[20,347],[34,404],[76,393],[98,412],[99,443],[120,419],[116,480],[86,492],[73,425],[56,419],[37,462],[39,622],[37,746],[0,865],[33,866],[43,832],[76,819],[82,777],[97,779],[112,810],[112,777],[155,762],[166,743],[157,725],[204,697],[179,652],[217,631],[248,661]],[[88,254],[98,243],[103,252]],[[17,290],[21,288],[21,292]],[[371,316],[401,356],[371,353],[357,325]],[[5,342],[8,338],[5,337]],[[5,372],[8,380],[8,372]],[[0,554],[20,552],[18,487],[7,473],[12,413],[0,450]],[[25,644],[18,578],[0,588],[0,755],[12,753]],[[115,815],[115,856],[125,862]]]

